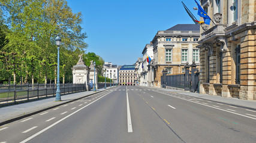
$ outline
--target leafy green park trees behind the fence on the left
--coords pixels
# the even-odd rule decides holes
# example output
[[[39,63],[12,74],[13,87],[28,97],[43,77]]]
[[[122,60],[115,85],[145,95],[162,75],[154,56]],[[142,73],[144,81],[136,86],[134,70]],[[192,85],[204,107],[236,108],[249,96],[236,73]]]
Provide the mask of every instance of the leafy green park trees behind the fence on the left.
[[[82,23],[82,14],[73,13],[65,0],[0,1],[0,83],[56,83],[56,35],[62,42],[61,82],[72,82],[80,54],[86,66],[94,60],[101,74],[104,60],[86,54]]]

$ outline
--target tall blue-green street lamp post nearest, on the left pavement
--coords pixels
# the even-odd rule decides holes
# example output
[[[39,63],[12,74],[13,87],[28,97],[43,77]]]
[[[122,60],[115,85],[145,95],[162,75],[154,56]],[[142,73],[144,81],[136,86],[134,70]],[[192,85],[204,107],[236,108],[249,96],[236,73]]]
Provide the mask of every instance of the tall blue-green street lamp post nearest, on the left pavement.
[[[59,46],[61,45],[61,38],[57,35],[56,45],[58,46],[58,68],[57,68],[57,91],[56,91],[56,99],[55,101],[61,101],[61,91],[59,90]]]

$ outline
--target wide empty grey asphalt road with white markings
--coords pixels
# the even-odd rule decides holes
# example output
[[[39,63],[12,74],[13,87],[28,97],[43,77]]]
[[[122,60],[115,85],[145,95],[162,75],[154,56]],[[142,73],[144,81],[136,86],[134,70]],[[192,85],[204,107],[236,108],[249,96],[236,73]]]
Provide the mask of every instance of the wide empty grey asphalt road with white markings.
[[[118,86],[1,126],[4,142],[255,143],[256,111]]]

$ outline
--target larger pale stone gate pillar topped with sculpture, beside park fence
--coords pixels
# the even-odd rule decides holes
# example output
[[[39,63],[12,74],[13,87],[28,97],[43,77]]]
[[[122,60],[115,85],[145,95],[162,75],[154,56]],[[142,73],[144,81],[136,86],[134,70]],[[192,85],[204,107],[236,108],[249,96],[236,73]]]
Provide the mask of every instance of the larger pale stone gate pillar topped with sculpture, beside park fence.
[[[73,70],[73,84],[85,84],[86,90],[90,91],[91,89],[88,88],[89,69],[83,61],[82,54],[79,55],[79,61],[77,62],[76,66],[73,66],[71,69]]]

